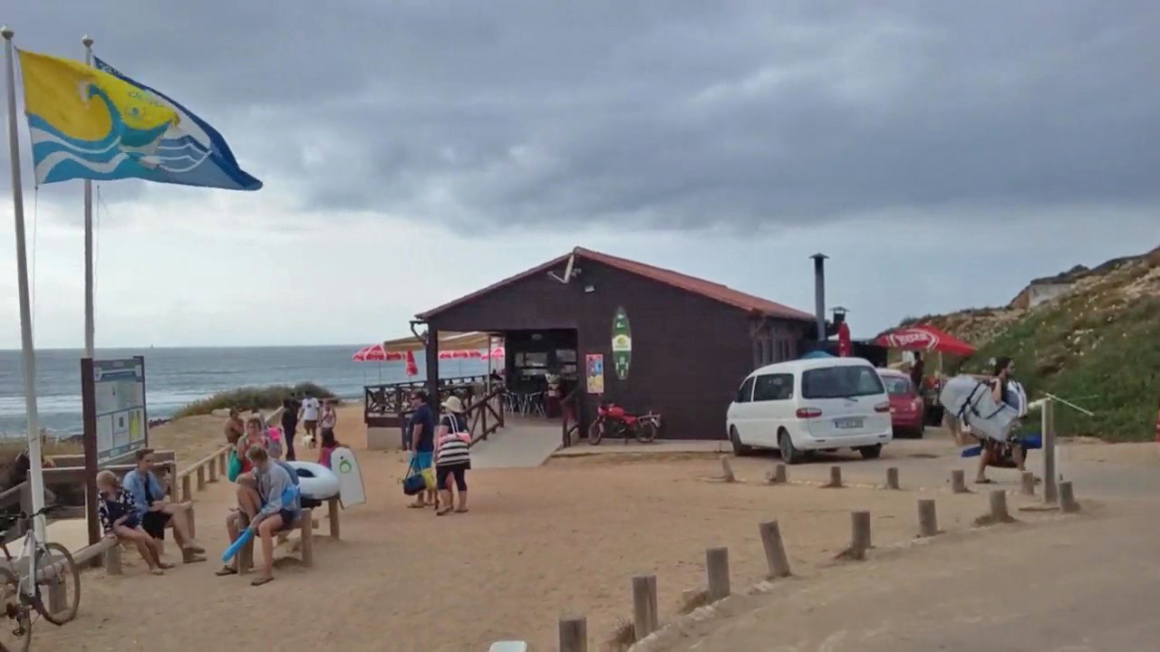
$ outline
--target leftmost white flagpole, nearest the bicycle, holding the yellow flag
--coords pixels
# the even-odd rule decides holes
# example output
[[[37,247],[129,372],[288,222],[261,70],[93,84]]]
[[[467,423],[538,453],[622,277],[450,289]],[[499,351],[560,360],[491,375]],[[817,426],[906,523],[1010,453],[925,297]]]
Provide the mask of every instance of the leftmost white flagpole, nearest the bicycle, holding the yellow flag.
[[[20,180],[20,140],[16,131],[16,66],[8,26],[0,28],[8,66],[8,157],[12,161],[12,203],[16,217],[16,278],[20,294],[20,348],[24,354],[24,411],[28,414],[28,480],[32,487],[32,512],[44,507],[44,476],[41,469],[41,428],[36,411],[36,354],[32,349],[32,310],[28,299],[28,251],[24,245],[24,194]],[[34,521],[44,541],[44,519]]]

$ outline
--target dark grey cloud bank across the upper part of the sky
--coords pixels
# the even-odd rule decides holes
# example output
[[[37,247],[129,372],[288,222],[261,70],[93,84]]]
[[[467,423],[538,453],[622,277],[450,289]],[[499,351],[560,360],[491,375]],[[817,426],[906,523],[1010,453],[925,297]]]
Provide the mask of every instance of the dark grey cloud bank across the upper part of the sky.
[[[342,5],[342,3],[339,3]],[[24,3],[270,191],[456,224],[795,224],[1151,203],[1152,2]]]

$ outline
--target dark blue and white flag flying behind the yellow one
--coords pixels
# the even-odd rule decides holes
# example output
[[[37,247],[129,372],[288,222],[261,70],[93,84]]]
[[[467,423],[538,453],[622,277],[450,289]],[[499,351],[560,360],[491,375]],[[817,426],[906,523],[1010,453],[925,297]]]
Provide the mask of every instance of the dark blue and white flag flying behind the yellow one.
[[[161,138],[157,150],[142,169],[131,176],[158,181],[161,183],[180,183],[183,186],[202,186],[206,188],[225,188],[229,190],[258,190],[262,182],[254,179],[238,166],[233,152],[226,145],[225,138],[193,111],[175,102],[168,95],[130,79],[117,68],[97,57],[93,65],[114,77],[117,77],[143,90],[147,90],[158,101],[168,104],[179,116]],[[110,179],[123,179],[125,175],[111,175]],[[93,178],[93,176],[89,176]]]

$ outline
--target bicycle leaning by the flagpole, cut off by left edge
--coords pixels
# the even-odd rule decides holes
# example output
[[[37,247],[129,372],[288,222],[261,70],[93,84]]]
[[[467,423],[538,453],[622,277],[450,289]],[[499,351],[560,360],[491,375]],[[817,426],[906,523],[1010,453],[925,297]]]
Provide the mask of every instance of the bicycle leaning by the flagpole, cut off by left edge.
[[[32,515],[21,512],[19,516],[7,516],[27,528],[19,557],[14,558],[8,551],[7,530],[0,531],[0,549],[3,549],[8,562],[7,567],[0,566],[0,652],[24,652],[29,649],[35,614],[58,626],[77,617],[80,570],[72,553],[59,543],[46,543],[36,537],[34,520],[48,512],[49,507],[44,507]],[[19,566],[27,566],[27,573],[20,579],[13,572]],[[73,584],[71,596],[67,587],[70,578]]]

